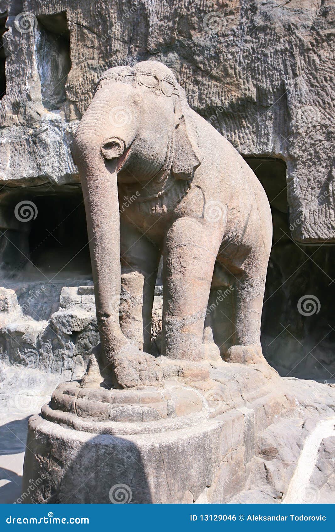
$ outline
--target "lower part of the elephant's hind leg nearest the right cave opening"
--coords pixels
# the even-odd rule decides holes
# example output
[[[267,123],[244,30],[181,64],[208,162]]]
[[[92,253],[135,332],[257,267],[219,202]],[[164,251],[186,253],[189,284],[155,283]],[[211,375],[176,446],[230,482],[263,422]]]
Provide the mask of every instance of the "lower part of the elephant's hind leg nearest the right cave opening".
[[[244,276],[235,285],[235,337],[227,362],[265,363],[261,347],[261,318],[266,273]]]

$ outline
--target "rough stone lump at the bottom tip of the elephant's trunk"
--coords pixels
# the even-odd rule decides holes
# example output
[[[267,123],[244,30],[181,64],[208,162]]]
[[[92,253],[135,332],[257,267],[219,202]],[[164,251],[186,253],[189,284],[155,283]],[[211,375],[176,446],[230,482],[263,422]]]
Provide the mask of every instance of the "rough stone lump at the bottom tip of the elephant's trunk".
[[[124,346],[113,359],[114,387],[164,386],[163,372],[154,356],[136,346]],[[116,381],[116,382],[115,382]]]

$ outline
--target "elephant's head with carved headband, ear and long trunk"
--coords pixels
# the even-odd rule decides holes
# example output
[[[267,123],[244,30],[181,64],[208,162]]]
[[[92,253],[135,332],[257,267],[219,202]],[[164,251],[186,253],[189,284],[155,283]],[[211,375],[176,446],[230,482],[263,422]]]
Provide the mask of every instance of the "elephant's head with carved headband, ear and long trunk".
[[[156,61],[102,75],[71,151],[84,195],[102,355],[113,366],[127,343],[115,310],[121,292],[117,182],[145,185],[167,174],[190,179],[203,155],[185,92]]]

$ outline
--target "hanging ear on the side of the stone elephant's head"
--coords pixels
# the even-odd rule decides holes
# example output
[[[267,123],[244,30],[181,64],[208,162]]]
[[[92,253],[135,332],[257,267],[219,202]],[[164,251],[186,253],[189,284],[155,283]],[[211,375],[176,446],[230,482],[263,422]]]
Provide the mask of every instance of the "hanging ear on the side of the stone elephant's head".
[[[176,129],[171,170],[176,179],[190,179],[204,155],[198,145],[197,131],[185,90],[180,86],[178,95],[174,97],[174,107]]]

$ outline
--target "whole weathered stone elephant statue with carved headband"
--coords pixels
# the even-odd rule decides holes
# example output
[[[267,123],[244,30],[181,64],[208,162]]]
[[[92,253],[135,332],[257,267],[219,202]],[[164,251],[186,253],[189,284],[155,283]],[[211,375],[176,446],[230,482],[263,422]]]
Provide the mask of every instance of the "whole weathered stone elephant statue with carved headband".
[[[233,146],[188,106],[173,72],[156,61],[107,70],[71,149],[87,214],[99,365],[112,385],[160,386],[171,360],[264,361],[268,198]],[[148,351],[161,255],[155,358]]]

